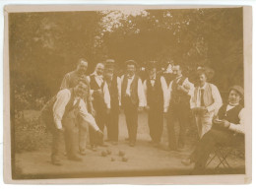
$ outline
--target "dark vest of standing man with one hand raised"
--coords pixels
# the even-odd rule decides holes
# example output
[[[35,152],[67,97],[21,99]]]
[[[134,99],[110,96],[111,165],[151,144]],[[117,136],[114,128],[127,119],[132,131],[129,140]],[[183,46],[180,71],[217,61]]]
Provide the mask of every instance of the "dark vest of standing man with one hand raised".
[[[181,86],[184,81],[186,80],[186,77],[182,76],[178,83],[176,83],[176,79],[173,80],[172,85],[171,85],[171,98],[170,101],[171,103],[189,103],[189,98],[186,93],[183,91],[177,90],[178,86]]]

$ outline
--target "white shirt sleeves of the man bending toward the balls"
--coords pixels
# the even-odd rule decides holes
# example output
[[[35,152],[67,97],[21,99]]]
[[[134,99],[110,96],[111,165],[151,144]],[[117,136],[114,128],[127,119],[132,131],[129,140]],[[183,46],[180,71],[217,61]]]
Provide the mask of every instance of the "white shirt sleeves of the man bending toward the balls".
[[[63,89],[57,94],[57,99],[53,104],[53,118],[57,129],[63,128],[61,121],[65,113],[65,107],[68,104],[70,98],[71,92],[68,89]],[[96,125],[96,120],[93,115],[88,112],[84,99],[78,96],[75,97],[73,105],[75,105],[79,99],[79,115],[81,116],[82,120],[88,122],[97,131],[99,128]]]

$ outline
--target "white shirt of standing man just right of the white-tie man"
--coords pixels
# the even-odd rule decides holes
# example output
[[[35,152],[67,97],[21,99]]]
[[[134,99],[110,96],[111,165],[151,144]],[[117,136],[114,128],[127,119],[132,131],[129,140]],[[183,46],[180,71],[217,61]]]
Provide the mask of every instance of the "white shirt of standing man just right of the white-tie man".
[[[156,77],[155,77],[156,79]],[[153,81],[153,82],[152,82]],[[155,86],[156,80],[151,80],[151,84],[152,86]],[[161,76],[160,77],[160,85],[161,85],[161,90],[162,90],[162,94],[163,94],[163,107],[167,105],[166,101],[167,101],[167,94],[168,94],[168,87],[166,84],[165,79]],[[148,104],[147,101],[147,80],[144,81],[143,83],[143,87],[144,87],[144,92],[145,92],[145,104]],[[163,111],[167,110],[167,108],[163,108]]]

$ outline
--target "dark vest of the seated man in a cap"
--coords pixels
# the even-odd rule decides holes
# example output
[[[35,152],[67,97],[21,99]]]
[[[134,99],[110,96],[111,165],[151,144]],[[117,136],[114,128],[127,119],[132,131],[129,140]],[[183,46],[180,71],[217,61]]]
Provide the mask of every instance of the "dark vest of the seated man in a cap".
[[[240,122],[238,115],[239,115],[239,112],[241,111],[241,109],[243,108],[243,106],[238,104],[228,111],[226,111],[226,106],[227,106],[227,104],[224,104],[220,108],[220,110],[218,112],[219,118],[225,119],[228,122],[233,123],[233,124],[238,124]]]

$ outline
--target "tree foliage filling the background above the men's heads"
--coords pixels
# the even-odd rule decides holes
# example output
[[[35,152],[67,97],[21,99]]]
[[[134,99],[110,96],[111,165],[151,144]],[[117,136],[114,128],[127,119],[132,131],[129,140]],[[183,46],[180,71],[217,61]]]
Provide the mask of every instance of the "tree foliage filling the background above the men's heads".
[[[52,96],[79,58],[113,58],[141,66],[180,63],[185,74],[202,65],[216,72],[221,91],[243,86],[242,9],[106,10],[12,13],[9,19],[11,89]]]

